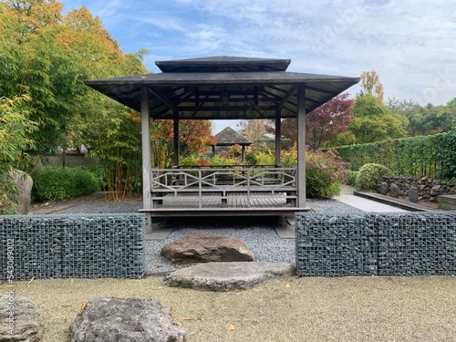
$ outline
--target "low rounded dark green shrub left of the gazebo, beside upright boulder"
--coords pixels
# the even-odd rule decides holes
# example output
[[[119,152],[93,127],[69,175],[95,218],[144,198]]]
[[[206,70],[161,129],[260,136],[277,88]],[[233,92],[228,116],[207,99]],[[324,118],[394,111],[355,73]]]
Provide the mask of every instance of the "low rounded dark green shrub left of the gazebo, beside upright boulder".
[[[77,168],[49,167],[32,174],[34,201],[62,201],[98,192],[97,177],[89,171]]]

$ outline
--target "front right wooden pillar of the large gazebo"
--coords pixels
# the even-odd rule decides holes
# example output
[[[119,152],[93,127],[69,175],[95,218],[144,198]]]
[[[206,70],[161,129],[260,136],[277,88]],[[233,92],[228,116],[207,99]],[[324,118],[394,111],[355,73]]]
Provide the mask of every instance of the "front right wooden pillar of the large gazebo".
[[[306,208],[306,85],[297,87],[297,207]]]

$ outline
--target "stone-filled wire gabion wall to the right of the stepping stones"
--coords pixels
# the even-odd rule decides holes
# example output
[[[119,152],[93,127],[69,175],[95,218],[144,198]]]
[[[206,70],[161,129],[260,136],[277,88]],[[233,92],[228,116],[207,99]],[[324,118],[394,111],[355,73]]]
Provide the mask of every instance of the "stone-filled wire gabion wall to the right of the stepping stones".
[[[299,275],[456,275],[456,212],[295,214]]]

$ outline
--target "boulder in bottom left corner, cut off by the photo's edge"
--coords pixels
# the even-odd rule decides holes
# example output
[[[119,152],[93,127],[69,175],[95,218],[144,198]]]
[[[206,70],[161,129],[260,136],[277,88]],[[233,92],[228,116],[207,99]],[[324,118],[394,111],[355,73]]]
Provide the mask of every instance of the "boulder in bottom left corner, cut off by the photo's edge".
[[[0,295],[0,341],[38,342],[45,329],[36,305],[21,295]]]

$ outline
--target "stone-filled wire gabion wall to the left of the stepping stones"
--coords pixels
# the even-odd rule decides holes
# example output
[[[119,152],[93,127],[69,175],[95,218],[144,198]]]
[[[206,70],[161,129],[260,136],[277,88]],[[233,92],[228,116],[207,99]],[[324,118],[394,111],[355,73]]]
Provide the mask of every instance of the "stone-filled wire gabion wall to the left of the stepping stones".
[[[0,216],[0,279],[140,278],[144,229],[139,213]]]

